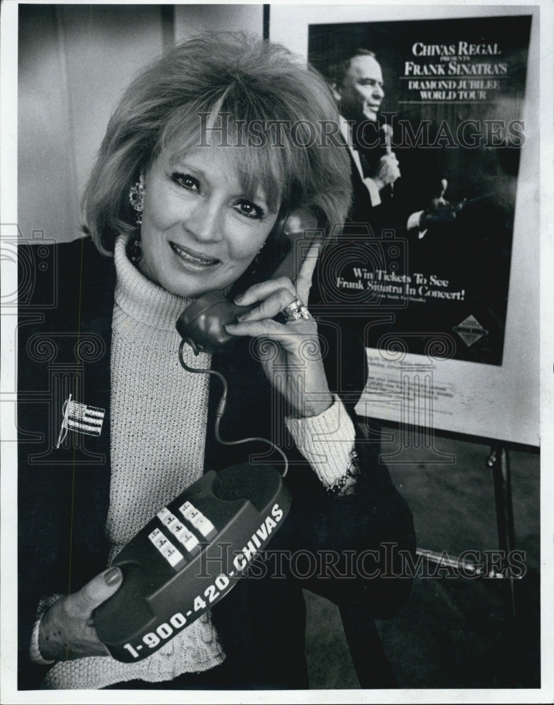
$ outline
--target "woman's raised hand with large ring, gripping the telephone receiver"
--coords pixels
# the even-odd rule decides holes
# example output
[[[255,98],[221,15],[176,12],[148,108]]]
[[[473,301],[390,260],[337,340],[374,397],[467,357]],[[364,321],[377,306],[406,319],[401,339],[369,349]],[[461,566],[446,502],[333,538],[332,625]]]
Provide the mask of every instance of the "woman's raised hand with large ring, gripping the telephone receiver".
[[[314,319],[300,318],[286,324],[273,320],[295,299],[308,300],[312,276],[319,253],[319,243],[309,248],[295,283],[287,277],[254,284],[235,298],[241,306],[259,302],[259,306],[238,317],[238,324],[228,324],[232,336],[266,338],[275,344],[275,352],[264,344],[260,350],[261,364],[275,387],[292,407],[297,417],[316,416],[333,403],[321,361],[321,348]]]

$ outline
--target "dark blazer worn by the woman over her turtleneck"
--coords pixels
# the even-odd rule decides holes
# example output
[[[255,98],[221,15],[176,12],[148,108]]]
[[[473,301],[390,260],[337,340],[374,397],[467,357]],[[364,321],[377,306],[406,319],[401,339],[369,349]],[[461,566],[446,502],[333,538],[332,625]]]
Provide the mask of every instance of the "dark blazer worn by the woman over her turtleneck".
[[[110,482],[110,347],[115,268],[98,254],[90,238],[50,248],[20,246],[20,313],[18,336],[18,467],[20,688],[36,687],[45,668],[26,656],[40,596],[80,589],[106,567],[104,535]],[[332,319],[321,318],[319,331],[330,387],[354,415],[364,387],[366,360],[359,339]],[[391,577],[400,558],[381,551],[379,565],[387,575],[367,577],[367,561],[355,565],[352,555],[382,542],[414,551],[412,516],[395,490],[386,467],[378,462],[374,443],[360,435],[357,448],[362,476],[355,494],[326,494],[312,469],[294,447],[259,363],[240,340],[212,358],[212,368],[229,384],[223,439],[261,436],[281,439],[290,459],[286,482],[293,508],[270,548],[307,551],[321,557],[336,551],[326,570],[293,577],[288,560],[266,575],[241,580],[213,610],[230,663],[236,663],[236,687],[307,687],[304,657],[302,588],[335,601],[341,609],[362,609],[368,619],[396,613],[407,599],[411,580]],[[176,350],[177,357],[177,350]],[[132,361],[130,361],[132,364]],[[147,374],[145,371],[144,374]],[[221,446],[214,441],[218,381],[211,378],[204,470],[220,470],[247,460],[253,446]],[[106,409],[99,437],[70,432],[70,448],[56,449],[61,407],[73,398]],[[183,437],[168,443],[186,443]],[[266,448],[259,452],[265,454]],[[264,458],[273,462],[278,458]],[[350,553],[349,553],[350,552]],[[369,555],[369,554],[364,554]],[[345,560],[355,571],[353,579]],[[331,558],[326,560],[331,561]],[[385,565],[386,560],[388,563]],[[393,568],[393,565],[395,568]],[[258,567],[259,568],[259,567]],[[386,570],[384,570],[386,569]],[[271,575],[273,572],[273,576]],[[304,575],[304,573],[302,573]],[[334,575],[334,577],[333,577]]]

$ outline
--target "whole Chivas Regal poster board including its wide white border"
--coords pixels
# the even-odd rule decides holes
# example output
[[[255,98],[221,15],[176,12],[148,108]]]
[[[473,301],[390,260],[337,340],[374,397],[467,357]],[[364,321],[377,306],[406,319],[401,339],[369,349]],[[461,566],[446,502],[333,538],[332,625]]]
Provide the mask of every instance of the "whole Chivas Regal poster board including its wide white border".
[[[349,145],[353,223],[329,243],[318,291],[364,337],[363,419],[539,444],[539,19],[510,4],[272,8],[270,38],[339,103],[350,50],[378,66],[373,116],[345,118],[364,123],[363,149]],[[367,176],[389,149],[400,174],[374,204]]]

